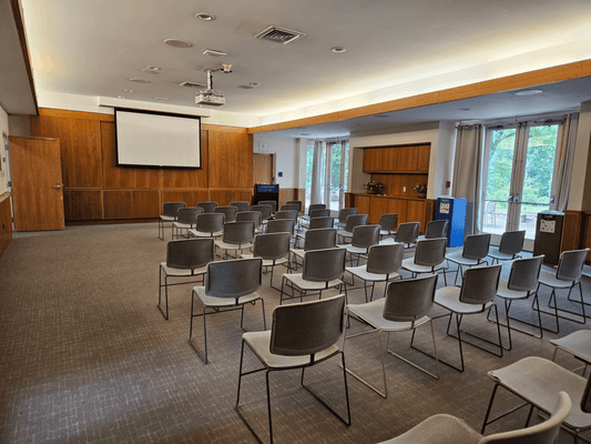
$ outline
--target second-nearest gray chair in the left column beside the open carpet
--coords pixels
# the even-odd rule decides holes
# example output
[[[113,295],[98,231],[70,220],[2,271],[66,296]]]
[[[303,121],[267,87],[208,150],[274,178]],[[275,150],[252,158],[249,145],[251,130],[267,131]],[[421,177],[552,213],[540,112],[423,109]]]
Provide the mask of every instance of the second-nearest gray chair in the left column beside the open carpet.
[[[233,222],[231,222],[233,223]],[[233,261],[210,262],[205,272],[205,285],[194,286],[191,294],[191,324],[188,327],[188,343],[200,359],[207,364],[207,325],[206,316],[241,310],[241,329],[244,330],[244,305],[261,301],[263,310],[263,330],[267,330],[265,322],[265,302],[257,293],[263,283],[263,260],[261,258],[236,259]],[[194,305],[197,299],[203,310],[195,314]],[[207,312],[207,309],[213,311]],[[193,343],[193,319],[203,317],[204,354]]]

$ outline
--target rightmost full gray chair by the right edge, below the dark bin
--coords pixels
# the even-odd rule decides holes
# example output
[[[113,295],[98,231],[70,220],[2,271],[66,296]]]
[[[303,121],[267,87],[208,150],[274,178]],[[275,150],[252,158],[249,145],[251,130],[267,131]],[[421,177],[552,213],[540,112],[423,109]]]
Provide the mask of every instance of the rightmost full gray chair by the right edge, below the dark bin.
[[[584,260],[587,258],[588,252],[589,252],[589,249],[563,251],[562,253],[560,253],[556,273],[552,273],[548,270],[541,271],[540,279],[538,280],[538,289],[536,290],[536,295],[537,296],[539,295],[541,285],[552,289],[552,292],[550,293],[550,300],[548,301],[548,305],[550,306],[550,309],[553,310],[553,313],[543,311],[541,309],[540,311],[542,313],[553,315],[556,317],[556,323],[557,323],[557,330],[550,330],[550,329],[544,329],[544,330],[548,330],[552,333],[558,333],[559,332],[559,324],[558,324],[559,317],[565,319],[571,322],[575,322],[578,324],[585,323],[587,315],[584,313],[584,306],[588,305],[588,303],[583,301],[581,276],[583,274],[583,265],[584,265]],[[574,289],[574,286],[577,285],[579,286],[579,295],[581,296],[579,301],[574,301],[571,299],[572,289]],[[577,313],[577,312],[573,312],[572,310],[567,310],[567,309],[559,309],[557,290],[568,290],[569,294],[567,296],[567,300],[570,302],[580,304],[581,313]],[[559,312],[579,315],[582,317],[582,320],[579,321],[570,316],[563,316],[563,315],[560,315]]]

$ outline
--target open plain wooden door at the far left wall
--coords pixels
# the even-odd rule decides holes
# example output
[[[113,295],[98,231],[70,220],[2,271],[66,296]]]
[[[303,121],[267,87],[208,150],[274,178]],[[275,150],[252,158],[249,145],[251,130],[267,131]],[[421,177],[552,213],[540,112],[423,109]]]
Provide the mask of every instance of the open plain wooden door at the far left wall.
[[[63,230],[60,142],[9,137],[16,231]]]

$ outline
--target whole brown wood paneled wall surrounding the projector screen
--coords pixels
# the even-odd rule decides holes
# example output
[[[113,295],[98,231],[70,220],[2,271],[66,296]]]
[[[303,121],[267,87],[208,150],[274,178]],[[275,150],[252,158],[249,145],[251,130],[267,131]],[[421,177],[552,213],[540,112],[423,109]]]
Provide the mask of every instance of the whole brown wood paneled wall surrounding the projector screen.
[[[113,115],[41,109],[34,137],[60,140],[67,223],[154,220],[162,203],[251,201],[253,135],[202,125],[201,170],[116,165]]]

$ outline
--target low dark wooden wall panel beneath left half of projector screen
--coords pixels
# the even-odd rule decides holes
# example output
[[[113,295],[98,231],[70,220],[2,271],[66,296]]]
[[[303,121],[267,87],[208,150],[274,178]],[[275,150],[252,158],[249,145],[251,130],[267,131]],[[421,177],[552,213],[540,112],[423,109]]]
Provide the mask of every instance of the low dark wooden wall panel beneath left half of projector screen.
[[[104,219],[159,218],[159,191],[103,191]]]

